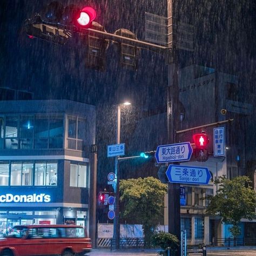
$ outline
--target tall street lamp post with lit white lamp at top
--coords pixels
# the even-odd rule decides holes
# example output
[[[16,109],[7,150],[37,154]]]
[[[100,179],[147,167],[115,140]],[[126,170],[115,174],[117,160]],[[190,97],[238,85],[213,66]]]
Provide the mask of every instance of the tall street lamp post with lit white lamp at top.
[[[117,105],[117,122],[116,122],[116,144],[120,144],[120,127],[121,127],[121,106],[131,105],[130,102],[125,102],[123,104]],[[119,173],[118,173],[118,156],[114,158],[114,174],[116,176],[116,186],[114,186],[114,193],[116,195],[116,200],[114,201],[114,227],[113,227],[113,239],[114,245],[113,249],[119,249],[119,238],[120,238],[120,226],[119,226]]]

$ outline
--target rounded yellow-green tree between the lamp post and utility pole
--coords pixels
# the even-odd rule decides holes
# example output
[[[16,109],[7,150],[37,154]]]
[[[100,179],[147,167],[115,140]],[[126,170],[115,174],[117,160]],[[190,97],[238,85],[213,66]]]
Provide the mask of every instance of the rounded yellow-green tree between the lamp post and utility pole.
[[[157,220],[164,213],[164,195],[167,186],[153,177],[120,180],[120,201],[123,203],[123,218],[142,224],[145,244],[150,245]]]

